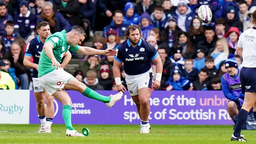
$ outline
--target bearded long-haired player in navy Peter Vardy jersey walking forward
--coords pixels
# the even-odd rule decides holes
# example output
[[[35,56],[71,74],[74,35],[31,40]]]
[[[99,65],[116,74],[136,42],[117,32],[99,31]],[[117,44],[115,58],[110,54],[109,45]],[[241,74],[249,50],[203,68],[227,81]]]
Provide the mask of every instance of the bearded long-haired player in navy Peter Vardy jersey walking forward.
[[[128,91],[141,119],[140,133],[149,133],[149,98],[151,89],[160,86],[163,64],[155,47],[142,39],[141,29],[137,25],[129,26],[125,32],[125,39],[117,48],[117,54],[114,57],[113,73],[117,90],[123,93],[126,90],[120,78],[120,67],[124,63]],[[156,64],[154,81],[150,61]]]

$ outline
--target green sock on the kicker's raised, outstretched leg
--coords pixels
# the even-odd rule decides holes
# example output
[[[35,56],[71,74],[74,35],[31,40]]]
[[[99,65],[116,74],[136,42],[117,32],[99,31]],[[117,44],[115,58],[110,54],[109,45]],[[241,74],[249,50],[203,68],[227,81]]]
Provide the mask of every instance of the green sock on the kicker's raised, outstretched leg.
[[[94,90],[90,89],[89,87],[86,87],[86,89],[84,90],[84,92],[82,94],[88,98],[96,99],[96,100],[104,102],[104,103],[109,103],[110,99],[111,99],[110,97],[106,97],[106,96],[96,93]]]

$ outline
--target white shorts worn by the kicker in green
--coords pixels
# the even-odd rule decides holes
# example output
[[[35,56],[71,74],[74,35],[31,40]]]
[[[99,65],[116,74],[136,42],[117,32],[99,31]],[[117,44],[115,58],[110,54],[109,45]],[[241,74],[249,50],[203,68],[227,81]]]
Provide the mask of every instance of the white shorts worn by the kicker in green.
[[[73,76],[64,71],[63,69],[54,70],[39,77],[39,83],[45,88],[50,95],[54,94],[57,90],[61,90],[64,88],[64,85],[68,83],[68,81]]]

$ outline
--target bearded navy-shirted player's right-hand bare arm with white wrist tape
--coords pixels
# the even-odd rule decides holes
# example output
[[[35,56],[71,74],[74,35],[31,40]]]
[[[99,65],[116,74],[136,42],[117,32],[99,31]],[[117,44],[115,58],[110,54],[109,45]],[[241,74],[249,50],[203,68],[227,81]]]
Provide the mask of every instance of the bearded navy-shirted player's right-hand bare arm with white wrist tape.
[[[163,63],[162,63],[159,55],[152,62],[156,64],[156,79],[153,81],[152,87],[159,88],[161,76],[162,76],[162,72],[163,72]]]

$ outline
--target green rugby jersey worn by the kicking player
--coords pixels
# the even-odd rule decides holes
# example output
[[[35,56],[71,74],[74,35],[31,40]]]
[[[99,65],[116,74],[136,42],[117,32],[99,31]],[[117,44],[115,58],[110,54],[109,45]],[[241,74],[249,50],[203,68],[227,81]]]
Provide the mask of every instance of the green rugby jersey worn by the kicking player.
[[[76,52],[79,49],[79,45],[73,47],[72,44],[67,43],[66,30],[62,30],[61,32],[56,32],[50,35],[45,40],[45,43],[47,41],[53,44],[53,55],[59,63],[68,50]],[[54,66],[52,67],[52,61],[45,54],[44,50],[42,50],[38,64],[38,77],[52,72],[54,69]]]

